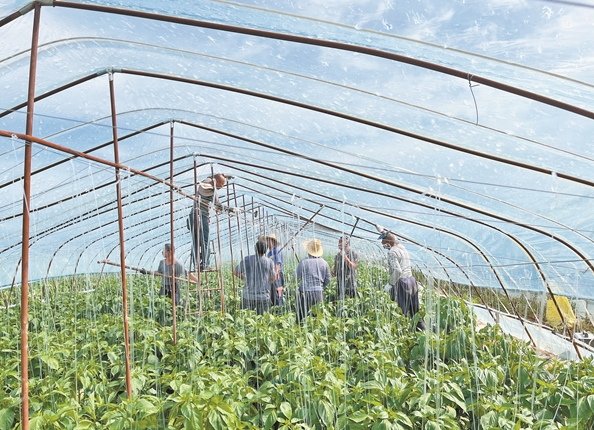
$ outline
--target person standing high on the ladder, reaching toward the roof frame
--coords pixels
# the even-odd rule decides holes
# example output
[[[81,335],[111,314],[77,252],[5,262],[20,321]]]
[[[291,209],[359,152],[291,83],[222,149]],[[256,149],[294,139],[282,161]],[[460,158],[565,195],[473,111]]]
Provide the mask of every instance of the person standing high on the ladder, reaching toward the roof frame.
[[[201,272],[211,270],[209,267],[210,247],[208,246],[210,205],[213,204],[215,210],[225,210],[216,191],[226,183],[227,179],[222,173],[217,173],[211,178],[200,182],[198,184],[198,195],[196,196],[198,201],[194,203],[187,219],[187,227],[192,235],[192,258],[196,267],[198,267],[198,247],[200,247],[199,267]]]

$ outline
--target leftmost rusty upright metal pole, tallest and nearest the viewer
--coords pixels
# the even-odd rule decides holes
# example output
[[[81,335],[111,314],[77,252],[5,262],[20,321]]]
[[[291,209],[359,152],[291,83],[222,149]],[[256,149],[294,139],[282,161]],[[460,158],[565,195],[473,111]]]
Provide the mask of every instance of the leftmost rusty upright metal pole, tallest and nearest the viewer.
[[[29,88],[27,92],[27,123],[25,133],[33,134],[33,111],[35,106],[35,77],[37,73],[37,48],[39,46],[39,20],[41,5],[35,3],[33,35],[31,37],[31,62],[29,64]],[[25,142],[23,181],[23,234],[21,261],[21,428],[29,430],[29,224],[31,207],[31,142]]]

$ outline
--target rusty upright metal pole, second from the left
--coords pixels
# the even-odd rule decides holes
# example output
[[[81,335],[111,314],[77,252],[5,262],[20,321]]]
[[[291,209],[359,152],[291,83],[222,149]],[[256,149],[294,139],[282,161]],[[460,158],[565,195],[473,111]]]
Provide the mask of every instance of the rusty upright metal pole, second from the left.
[[[113,73],[109,72],[109,96],[111,101],[111,126],[113,133],[113,154],[114,162],[120,163],[118,148],[118,129],[115,108],[115,91],[113,85]],[[126,288],[126,255],[124,252],[124,215],[122,210],[122,184],[120,182],[120,168],[115,168],[116,193],[118,199],[118,227],[120,232],[120,264],[122,276],[122,313],[124,316],[124,354],[126,361],[126,392],[128,398],[132,396],[132,381],[130,377],[130,333],[128,331],[128,293]]]

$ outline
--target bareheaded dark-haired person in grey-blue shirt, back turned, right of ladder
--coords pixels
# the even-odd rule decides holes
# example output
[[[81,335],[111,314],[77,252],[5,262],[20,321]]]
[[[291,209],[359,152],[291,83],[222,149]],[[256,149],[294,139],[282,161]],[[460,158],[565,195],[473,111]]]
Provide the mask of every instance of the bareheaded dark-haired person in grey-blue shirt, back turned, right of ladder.
[[[245,281],[241,294],[241,309],[254,310],[258,315],[270,309],[270,283],[274,279],[274,263],[264,256],[266,242],[258,240],[255,255],[245,257],[233,274]]]

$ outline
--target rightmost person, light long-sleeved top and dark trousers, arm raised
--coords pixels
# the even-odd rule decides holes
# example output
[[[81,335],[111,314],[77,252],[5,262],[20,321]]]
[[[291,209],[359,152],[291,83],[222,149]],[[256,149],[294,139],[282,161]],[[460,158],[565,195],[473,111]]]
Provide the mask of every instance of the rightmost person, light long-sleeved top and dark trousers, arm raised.
[[[419,312],[419,287],[412,275],[408,251],[401,244],[391,230],[380,225],[376,226],[381,232],[378,239],[384,248],[388,249],[388,269],[390,271],[390,298],[398,303],[407,317],[413,317]],[[420,319],[417,330],[425,330],[425,322]]]

